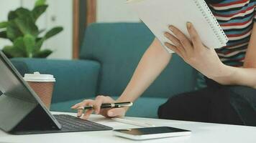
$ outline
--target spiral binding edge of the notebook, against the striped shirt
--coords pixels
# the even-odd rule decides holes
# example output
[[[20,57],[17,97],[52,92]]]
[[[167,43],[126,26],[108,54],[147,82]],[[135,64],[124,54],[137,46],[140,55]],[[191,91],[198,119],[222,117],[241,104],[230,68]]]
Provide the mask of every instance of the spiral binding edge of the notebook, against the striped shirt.
[[[227,41],[229,41],[229,39],[227,38],[223,29],[221,29],[219,22],[216,20],[214,14],[212,14],[211,10],[209,9],[209,6],[206,4],[206,1],[204,1],[204,0],[193,0],[193,1],[195,2],[196,6],[198,6],[201,13],[204,14],[204,18],[210,24],[211,28],[214,31],[214,34],[216,35],[216,37],[218,37],[219,41],[221,41],[221,44],[226,44]],[[202,6],[202,4],[204,6]],[[212,16],[214,21],[211,21],[211,19],[209,19],[208,16]]]

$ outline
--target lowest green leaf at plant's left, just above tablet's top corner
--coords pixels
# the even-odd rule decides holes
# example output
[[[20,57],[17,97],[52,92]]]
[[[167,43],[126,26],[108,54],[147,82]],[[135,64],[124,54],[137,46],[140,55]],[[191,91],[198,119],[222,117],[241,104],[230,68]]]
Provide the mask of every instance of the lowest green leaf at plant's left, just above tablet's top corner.
[[[4,46],[4,49],[2,49],[4,54],[8,58],[16,58],[16,57],[24,57],[25,55],[22,54],[22,52],[15,48],[14,46]]]

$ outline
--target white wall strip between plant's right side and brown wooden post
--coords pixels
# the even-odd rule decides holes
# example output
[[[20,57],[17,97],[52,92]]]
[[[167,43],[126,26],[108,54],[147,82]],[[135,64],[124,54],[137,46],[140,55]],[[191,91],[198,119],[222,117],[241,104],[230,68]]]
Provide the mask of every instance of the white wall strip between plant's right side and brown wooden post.
[[[55,52],[50,56],[54,59],[72,59],[73,52],[73,1],[50,0],[47,11],[47,28],[63,26],[64,30],[46,42],[44,47]],[[55,19],[55,20],[53,20]]]

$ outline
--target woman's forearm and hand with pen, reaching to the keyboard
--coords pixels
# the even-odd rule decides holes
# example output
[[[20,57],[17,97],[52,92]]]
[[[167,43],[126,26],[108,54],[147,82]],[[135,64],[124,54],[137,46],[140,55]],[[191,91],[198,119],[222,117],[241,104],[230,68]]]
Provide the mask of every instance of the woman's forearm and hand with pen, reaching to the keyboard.
[[[132,79],[117,101],[114,101],[111,97],[98,96],[95,100],[86,99],[83,102],[74,105],[72,108],[76,109],[86,105],[93,105],[93,110],[96,114],[102,114],[105,117],[123,117],[128,108],[100,109],[101,104],[127,101],[134,102],[134,100],[145,92],[147,87],[152,84],[163,69],[165,69],[170,58],[171,54],[163,48],[160,41],[155,39],[147,51],[145,51],[142,59],[140,59],[140,63],[134,71]],[[83,117],[81,117],[83,112],[79,110],[78,117],[88,119],[93,110],[87,110]]]

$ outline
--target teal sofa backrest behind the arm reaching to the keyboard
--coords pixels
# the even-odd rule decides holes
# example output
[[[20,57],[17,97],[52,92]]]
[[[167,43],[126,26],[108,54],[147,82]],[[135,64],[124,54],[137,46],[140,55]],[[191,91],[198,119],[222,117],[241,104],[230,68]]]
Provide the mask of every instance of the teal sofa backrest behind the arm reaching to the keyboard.
[[[142,54],[154,39],[147,26],[139,23],[91,24],[84,37],[80,57],[101,63],[98,94],[111,96],[122,94]],[[195,89],[195,75],[191,66],[174,55],[143,97],[166,98],[191,91]]]

